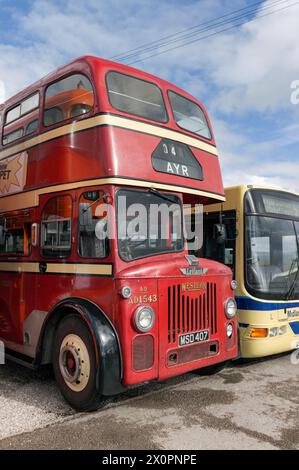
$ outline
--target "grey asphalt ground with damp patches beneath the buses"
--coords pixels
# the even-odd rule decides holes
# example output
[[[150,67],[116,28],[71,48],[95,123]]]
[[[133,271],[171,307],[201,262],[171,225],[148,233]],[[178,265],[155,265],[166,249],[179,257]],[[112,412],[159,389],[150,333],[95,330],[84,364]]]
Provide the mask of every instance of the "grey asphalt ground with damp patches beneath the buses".
[[[290,354],[151,383],[95,413],[62,399],[50,368],[0,366],[0,449],[299,449]]]

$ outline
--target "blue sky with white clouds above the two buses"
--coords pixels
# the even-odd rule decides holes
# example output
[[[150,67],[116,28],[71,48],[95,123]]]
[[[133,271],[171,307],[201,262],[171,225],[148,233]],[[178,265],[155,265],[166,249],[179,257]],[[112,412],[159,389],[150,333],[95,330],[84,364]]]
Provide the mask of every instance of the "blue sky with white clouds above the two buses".
[[[297,0],[0,0],[0,102],[80,55],[111,58],[249,6],[244,24],[132,65],[205,104],[225,186],[299,192]]]

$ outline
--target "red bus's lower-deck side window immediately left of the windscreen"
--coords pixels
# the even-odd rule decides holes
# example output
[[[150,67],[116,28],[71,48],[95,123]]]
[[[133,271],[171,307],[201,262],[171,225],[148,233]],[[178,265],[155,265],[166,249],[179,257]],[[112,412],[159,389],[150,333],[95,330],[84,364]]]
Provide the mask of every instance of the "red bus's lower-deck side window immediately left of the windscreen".
[[[106,212],[100,191],[88,191],[79,201],[79,255],[82,258],[105,258],[108,255]]]

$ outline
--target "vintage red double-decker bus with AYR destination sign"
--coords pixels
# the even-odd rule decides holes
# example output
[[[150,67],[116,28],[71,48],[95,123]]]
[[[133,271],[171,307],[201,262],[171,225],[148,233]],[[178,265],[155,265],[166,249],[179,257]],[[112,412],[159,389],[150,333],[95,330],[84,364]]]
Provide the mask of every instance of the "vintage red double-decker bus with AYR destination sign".
[[[82,57],[0,113],[6,357],[53,363],[63,396],[79,410],[134,384],[212,372],[234,358],[231,271],[189,255],[178,222],[183,204],[224,200],[203,105],[152,75]],[[176,216],[163,222],[169,236],[151,237],[151,224],[130,236],[135,203],[175,204]],[[110,235],[99,236],[107,208]]]

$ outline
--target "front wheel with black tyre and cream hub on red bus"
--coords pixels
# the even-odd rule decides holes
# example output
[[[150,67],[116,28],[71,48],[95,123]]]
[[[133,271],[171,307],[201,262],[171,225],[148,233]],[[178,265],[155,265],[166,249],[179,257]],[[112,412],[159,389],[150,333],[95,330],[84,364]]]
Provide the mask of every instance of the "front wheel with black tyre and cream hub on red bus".
[[[104,404],[97,393],[94,342],[79,315],[68,315],[58,325],[53,348],[54,374],[65,400],[78,411],[93,411]]]

